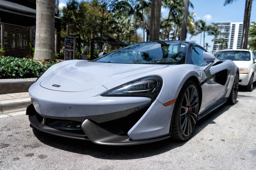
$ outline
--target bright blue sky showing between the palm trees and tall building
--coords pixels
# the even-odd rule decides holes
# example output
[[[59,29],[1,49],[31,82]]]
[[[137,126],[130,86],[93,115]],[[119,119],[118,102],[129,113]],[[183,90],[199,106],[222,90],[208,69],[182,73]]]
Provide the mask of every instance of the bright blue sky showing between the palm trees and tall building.
[[[245,0],[236,0],[230,5],[224,6],[224,0],[190,0],[194,5],[194,9],[189,7],[190,12],[194,12],[196,14],[195,20],[207,20],[207,24],[215,23],[215,22],[243,22],[244,20],[244,6]],[[59,0],[59,7],[65,6],[67,0]],[[168,8],[161,9],[161,13],[163,17],[167,17],[169,14]],[[250,22],[256,21],[256,1],[253,1],[252,11]],[[139,34],[143,34],[142,29],[138,30]],[[200,44],[201,35],[197,35],[192,37],[187,35],[187,41],[196,41],[196,43]],[[213,36],[208,36],[206,34],[205,42],[208,42],[211,47],[208,48],[208,51],[212,51]],[[203,45],[203,36],[201,39],[201,45]]]

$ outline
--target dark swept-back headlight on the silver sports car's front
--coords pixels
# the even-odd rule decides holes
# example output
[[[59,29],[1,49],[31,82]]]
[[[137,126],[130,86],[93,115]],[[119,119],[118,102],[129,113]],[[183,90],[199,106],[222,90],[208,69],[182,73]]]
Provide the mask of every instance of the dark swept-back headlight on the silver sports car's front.
[[[113,88],[101,96],[146,96],[156,99],[163,85],[163,79],[159,76],[140,78],[124,85]]]

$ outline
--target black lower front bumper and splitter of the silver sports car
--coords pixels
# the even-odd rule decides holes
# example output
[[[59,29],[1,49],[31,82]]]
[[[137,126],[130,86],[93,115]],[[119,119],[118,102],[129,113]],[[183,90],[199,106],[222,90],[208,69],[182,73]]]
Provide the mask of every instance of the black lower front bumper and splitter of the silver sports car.
[[[84,122],[68,121],[61,118],[51,119],[45,118],[41,114],[35,111],[35,108],[32,104],[27,107],[26,114],[29,115],[30,123],[37,128],[46,133],[73,138],[73,139],[82,139],[82,140],[91,140],[96,144],[103,145],[134,145],[134,144],[143,144],[149,142],[155,142],[162,139],[169,138],[170,135],[166,134],[153,139],[145,140],[132,140],[127,133],[115,134],[111,130],[104,129],[104,125],[93,122],[90,119],[85,119]],[[51,121],[49,121],[51,120]],[[57,123],[52,123],[52,122]],[[61,124],[62,121],[62,124]],[[50,123],[49,123],[50,122]],[[63,122],[66,122],[67,127],[62,126]],[[68,124],[68,123],[69,124]],[[72,127],[72,124],[75,124],[75,127]],[[57,125],[57,126],[55,126]],[[61,127],[62,126],[62,127]],[[77,127],[77,128],[76,128]]]

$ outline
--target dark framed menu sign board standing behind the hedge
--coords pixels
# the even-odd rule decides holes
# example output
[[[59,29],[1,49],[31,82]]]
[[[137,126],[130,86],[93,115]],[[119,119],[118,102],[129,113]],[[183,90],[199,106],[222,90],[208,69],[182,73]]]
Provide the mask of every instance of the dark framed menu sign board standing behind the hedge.
[[[64,60],[70,60],[75,58],[76,43],[75,37],[65,36],[65,54]]]

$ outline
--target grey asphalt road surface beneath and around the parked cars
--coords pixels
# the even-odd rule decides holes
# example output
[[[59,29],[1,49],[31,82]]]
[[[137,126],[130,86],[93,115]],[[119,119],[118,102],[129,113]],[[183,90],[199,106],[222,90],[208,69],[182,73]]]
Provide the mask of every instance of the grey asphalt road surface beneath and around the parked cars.
[[[101,146],[29,127],[26,115],[0,119],[0,170],[195,169],[256,170],[256,89],[236,105],[207,115],[187,142],[166,139],[135,146]]]

